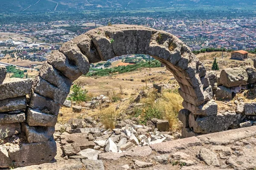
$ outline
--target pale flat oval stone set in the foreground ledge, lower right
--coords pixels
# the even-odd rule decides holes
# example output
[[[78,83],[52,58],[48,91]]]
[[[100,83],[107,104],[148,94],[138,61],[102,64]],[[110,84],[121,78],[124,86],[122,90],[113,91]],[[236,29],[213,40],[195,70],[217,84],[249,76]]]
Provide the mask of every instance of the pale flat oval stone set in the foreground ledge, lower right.
[[[199,159],[203,160],[207,165],[220,166],[216,153],[207,148],[201,148],[199,152]]]

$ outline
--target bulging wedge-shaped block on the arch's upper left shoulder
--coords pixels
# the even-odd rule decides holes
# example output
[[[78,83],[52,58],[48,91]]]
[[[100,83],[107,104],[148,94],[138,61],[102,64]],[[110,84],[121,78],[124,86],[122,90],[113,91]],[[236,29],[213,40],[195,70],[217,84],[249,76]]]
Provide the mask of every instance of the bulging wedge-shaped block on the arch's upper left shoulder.
[[[108,48],[109,49],[109,48]],[[77,44],[73,41],[66,42],[61,46],[60,52],[65,54],[71,62],[79,68],[82,74],[87,74],[90,68],[90,63],[84,54],[80,51]],[[113,58],[113,57],[112,57]]]

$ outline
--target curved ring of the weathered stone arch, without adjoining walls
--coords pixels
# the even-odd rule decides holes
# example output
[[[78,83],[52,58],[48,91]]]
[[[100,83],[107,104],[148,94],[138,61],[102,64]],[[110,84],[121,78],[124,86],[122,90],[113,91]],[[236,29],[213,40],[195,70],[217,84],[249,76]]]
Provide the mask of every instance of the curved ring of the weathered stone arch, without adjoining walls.
[[[166,65],[180,85],[183,107],[192,113],[205,115],[204,106],[208,101],[214,102],[204,65],[174,35],[132,25],[96,28],[62,45],[34,79],[26,122],[22,126],[27,142],[52,140],[61,104],[69,94],[72,82],[87,74],[90,63],[125,54],[148,54]],[[45,137],[37,138],[41,133]],[[55,155],[52,153],[51,158]]]

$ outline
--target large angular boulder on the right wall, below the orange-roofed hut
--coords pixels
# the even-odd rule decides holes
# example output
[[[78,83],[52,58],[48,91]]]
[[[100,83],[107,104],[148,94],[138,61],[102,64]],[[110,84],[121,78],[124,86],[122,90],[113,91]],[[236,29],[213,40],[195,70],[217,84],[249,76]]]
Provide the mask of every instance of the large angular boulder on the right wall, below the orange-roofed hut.
[[[248,75],[243,68],[226,68],[221,71],[220,82],[227,88],[247,85]]]

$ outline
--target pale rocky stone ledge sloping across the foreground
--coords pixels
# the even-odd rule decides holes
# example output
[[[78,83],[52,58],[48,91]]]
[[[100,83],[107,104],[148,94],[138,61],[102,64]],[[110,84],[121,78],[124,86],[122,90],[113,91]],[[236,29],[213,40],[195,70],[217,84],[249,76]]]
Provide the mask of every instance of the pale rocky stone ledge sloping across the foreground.
[[[17,170],[255,170],[256,126],[99,153],[99,160],[75,156]]]

